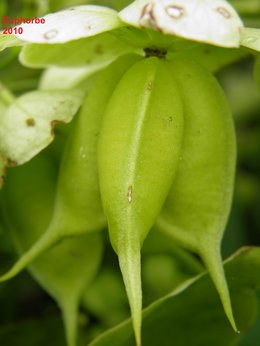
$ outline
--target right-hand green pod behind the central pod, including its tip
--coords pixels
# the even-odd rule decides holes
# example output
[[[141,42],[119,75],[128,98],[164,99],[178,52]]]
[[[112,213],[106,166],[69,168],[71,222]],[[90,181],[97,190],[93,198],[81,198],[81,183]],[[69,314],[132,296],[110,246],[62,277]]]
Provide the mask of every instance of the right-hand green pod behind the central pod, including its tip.
[[[185,130],[178,170],[157,225],[201,256],[237,330],[220,254],[236,162],[232,115],[211,73],[184,58],[169,65],[183,97]]]

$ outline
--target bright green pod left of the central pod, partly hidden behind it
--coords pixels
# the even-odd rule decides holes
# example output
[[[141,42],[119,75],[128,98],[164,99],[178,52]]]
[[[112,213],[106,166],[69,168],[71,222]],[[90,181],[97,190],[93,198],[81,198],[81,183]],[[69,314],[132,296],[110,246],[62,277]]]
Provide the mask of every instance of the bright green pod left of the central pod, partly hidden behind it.
[[[102,71],[72,129],[60,167],[53,217],[42,237],[0,281],[10,279],[66,236],[106,226],[97,174],[97,138],[109,98],[122,74],[141,57],[129,54]]]

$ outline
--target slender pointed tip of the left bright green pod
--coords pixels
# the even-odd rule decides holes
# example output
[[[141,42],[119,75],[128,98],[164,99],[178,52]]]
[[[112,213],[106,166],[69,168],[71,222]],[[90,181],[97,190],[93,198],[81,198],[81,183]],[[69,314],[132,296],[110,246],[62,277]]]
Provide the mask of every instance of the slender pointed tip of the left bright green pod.
[[[12,266],[10,270],[8,270],[5,274],[0,276],[0,282],[4,282],[15,277],[23,269],[25,269],[33,260],[35,260],[40,254],[42,254],[43,252],[48,250],[51,246],[53,246],[58,240],[59,238],[57,237],[56,234],[53,234],[53,232],[49,232],[47,230],[43,234],[43,236],[40,237],[38,241],[36,241],[36,243],[34,243],[32,247],[29,248],[29,250],[26,251],[17,260],[17,262]]]

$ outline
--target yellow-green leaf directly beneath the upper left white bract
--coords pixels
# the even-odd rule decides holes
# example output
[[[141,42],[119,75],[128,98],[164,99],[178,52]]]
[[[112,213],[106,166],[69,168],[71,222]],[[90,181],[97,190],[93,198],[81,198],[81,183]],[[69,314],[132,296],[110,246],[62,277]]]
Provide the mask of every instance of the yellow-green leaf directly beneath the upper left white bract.
[[[20,61],[28,67],[97,66],[109,63],[136,48],[109,33],[65,44],[30,44],[24,47]]]

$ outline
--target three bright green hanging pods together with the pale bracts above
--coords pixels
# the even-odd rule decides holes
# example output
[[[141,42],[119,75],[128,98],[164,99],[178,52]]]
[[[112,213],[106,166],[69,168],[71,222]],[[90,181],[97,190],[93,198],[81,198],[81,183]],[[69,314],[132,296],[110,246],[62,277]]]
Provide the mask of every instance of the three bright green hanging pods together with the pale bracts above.
[[[201,257],[238,331],[220,256],[236,145],[212,71],[245,54],[241,45],[259,50],[259,31],[244,28],[224,0],[138,0],[119,13],[85,5],[45,21],[2,35],[2,48],[23,46],[24,65],[49,67],[42,90],[7,102],[2,162],[30,160],[51,142],[55,124],[83,107],[67,139],[49,226],[0,280],[64,237],[107,223],[141,345],[140,253],[156,224]],[[53,66],[67,90],[62,81],[51,90]]]

